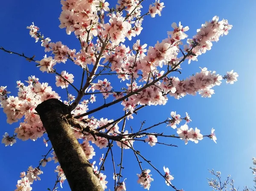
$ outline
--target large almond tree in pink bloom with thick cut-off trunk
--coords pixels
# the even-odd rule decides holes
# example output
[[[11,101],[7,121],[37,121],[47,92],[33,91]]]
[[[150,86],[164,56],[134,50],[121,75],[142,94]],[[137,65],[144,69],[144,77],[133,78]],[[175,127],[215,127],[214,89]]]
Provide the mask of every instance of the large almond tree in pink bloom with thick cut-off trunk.
[[[39,32],[39,28],[32,23],[28,26],[29,34],[35,41],[41,42],[45,52],[53,56],[44,56],[40,61],[35,56],[24,55],[1,47],[0,49],[35,62],[42,72],[56,75],[56,86],[67,90],[67,100],[62,101],[58,93],[52,90],[47,82],[39,82],[35,76],[30,76],[26,83],[17,81],[18,95],[9,96],[6,86],[0,87],[1,106],[6,113],[9,124],[19,122],[13,135],[5,133],[2,142],[13,145],[16,139],[23,141],[41,138],[47,133],[52,148],[44,155],[37,167],[30,166],[22,172],[16,191],[30,191],[31,184],[40,179],[41,167],[54,160],[60,165],[56,167],[58,173],[54,188],[65,179],[72,191],[102,191],[107,188],[106,176],[102,173],[108,156],[113,162],[113,180],[115,191],[125,191],[125,179],[122,177],[124,149],[131,149],[136,156],[140,173],[137,174],[141,186],[149,189],[153,179],[150,170],[144,169],[142,160],[165,179],[168,186],[175,191],[179,189],[172,184],[169,168],[159,170],[149,159],[135,149],[135,142],[148,142],[152,147],[157,144],[166,146],[165,142],[158,142],[158,137],[166,139],[182,139],[185,144],[189,141],[198,143],[204,137],[216,142],[214,129],[203,135],[198,128],[189,128],[191,121],[188,113],[180,116],[171,112],[171,116],[163,122],[144,127],[144,122],[138,129],[125,126],[127,119],[133,119],[134,113],[143,107],[164,105],[170,97],[176,99],[199,93],[202,97],[210,98],[214,94],[212,89],[220,85],[222,80],[233,84],[237,81],[236,72],[219,75],[215,71],[201,68],[196,74],[186,79],[175,77],[180,72],[184,61],[197,61],[198,56],[211,49],[212,43],[227,35],[232,25],[227,20],[219,20],[217,16],[201,25],[193,38],[189,39],[181,23],[172,23],[172,31],[167,32],[166,39],[147,48],[137,40],[133,47],[125,46],[125,41],[140,35],[143,18],[150,15],[161,16],[164,3],[156,0],[145,11],[142,9],[143,0],[118,0],[116,8],[109,8],[105,0],[61,0],[62,12],[59,17],[60,28],[66,29],[67,35],[74,33],[81,49],[71,49],[61,41],[51,42]],[[186,40],[186,41],[185,41]],[[185,43],[184,46],[182,44]],[[81,85],[73,85],[74,75],[67,71],[58,71],[61,63],[71,62],[74,67],[81,69]],[[77,65],[77,66],[75,66]],[[114,75],[117,80],[127,82],[127,86],[116,90],[105,76]],[[76,92],[71,95],[70,90]],[[90,98],[89,98],[89,97]],[[90,104],[96,97],[103,96],[105,103],[95,109]],[[114,100],[113,100],[114,99]],[[113,100],[113,101],[112,101]],[[117,119],[96,119],[92,114],[115,104],[122,104],[124,114]],[[183,123],[177,128],[180,123]],[[162,132],[152,132],[154,127],[167,124],[175,130],[177,135]],[[114,158],[112,147],[121,148],[121,161]],[[88,160],[95,155],[94,148],[108,148],[102,163],[98,168],[95,162]],[[54,151],[52,150],[54,149]],[[50,155],[52,154],[52,155]],[[116,165],[118,164],[118,165]],[[110,167],[109,171],[112,167]],[[108,178],[110,181],[111,178]],[[49,189],[51,190],[51,189]]]

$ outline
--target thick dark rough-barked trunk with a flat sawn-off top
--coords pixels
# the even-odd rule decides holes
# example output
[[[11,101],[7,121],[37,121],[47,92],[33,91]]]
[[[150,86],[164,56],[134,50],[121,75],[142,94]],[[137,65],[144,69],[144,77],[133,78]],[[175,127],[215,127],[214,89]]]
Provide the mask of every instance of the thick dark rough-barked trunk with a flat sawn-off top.
[[[70,113],[69,107],[58,99],[49,99],[38,104],[35,110],[44,124],[71,190],[103,191],[65,117]]]

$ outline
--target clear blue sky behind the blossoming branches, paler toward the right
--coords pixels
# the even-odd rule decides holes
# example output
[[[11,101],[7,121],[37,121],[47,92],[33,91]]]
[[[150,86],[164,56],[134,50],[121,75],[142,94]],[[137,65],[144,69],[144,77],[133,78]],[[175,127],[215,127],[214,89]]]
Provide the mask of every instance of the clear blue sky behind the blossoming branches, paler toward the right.
[[[109,0],[113,4],[114,0]],[[153,0],[145,0],[142,13],[147,12],[148,6]],[[132,42],[125,41],[130,46],[134,41],[140,39],[141,43],[154,46],[157,41],[167,37],[166,32],[172,30],[172,22],[179,22],[183,26],[189,26],[187,34],[191,38],[196,33],[196,29],[206,20],[218,15],[220,19],[225,18],[233,25],[229,35],[224,36],[218,43],[213,43],[212,50],[198,57],[198,62],[187,62],[182,64],[182,74],[179,78],[185,78],[199,71],[199,67],[207,67],[209,70],[216,70],[217,73],[224,75],[232,69],[239,73],[239,81],[235,84],[226,84],[223,81],[220,87],[215,87],[215,94],[212,98],[201,98],[201,96],[186,96],[180,100],[169,98],[165,106],[151,106],[140,110],[133,120],[129,120],[127,127],[135,129],[140,127],[140,121],[146,120],[145,127],[165,120],[170,116],[171,111],[177,111],[182,116],[188,112],[192,122],[189,127],[198,127],[203,134],[209,134],[212,127],[216,130],[217,144],[212,140],[203,139],[198,144],[189,142],[184,145],[181,140],[165,139],[167,143],[177,144],[178,148],[170,148],[157,145],[151,148],[144,143],[136,143],[134,148],[140,152],[163,172],[163,166],[169,167],[175,179],[173,184],[177,188],[184,188],[185,191],[207,191],[212,190],[207,185],[207,177],[210,177],[207,169],[214,168],[221,171],[225,177],[231,174],[235,179],[235,185],[253,185],[253,175],[250,172],[251,158],[256,156],[255,143],[255,30],[256,30],[256,1],[255,0],[235,0],[235,1],[172,1],[163,0],[165,8],[162,16],[155,18],[145,17],[143,31],[139,37]],[[37,60],[44,56],[44,48],[40,43],[34,43],[30,38],[26,26],[35,22],[39,26],[45,37],[52,39],[52,42],[62,41],[70,48],[79,49],[79,41],[74,35],[66,35],[64,29],[58,27],[58,17],[61,13],[61,5],[58,0],[44,1],[16,1],[9,0],[1,3],[2,10],[0,18],[2,27],[0,30],[0,46],[11,49],[15,52],[24,52],[27,56],[35,55]],[[66,98],[65,90],[55,87],[55,75],[42,73],[35,67],[34,63],[29,63],[16,55],[10,55],[3,51],[0,52],[1,86],[8,86],[8,90],[13,96],[17,95],[16,81],[24,81],[30,75],[36,75],[41,82],[49,82],[61,96]],[[66,69],[75,75],[75,85],[79,84],[81,70],[79,67],[68,62],[59,64],[58,71]],[[119,80],[109,78],[111,84],[119,83]],[[72,92],[71,92],[72,93]],[[97,104],[102,104],[103,100],[97,97]],[[111,101],[111,100],[109,100]],[[96,107],[96,106],[92,106]],[[95,113],[96,118],[116,119],[122,115],[120,104],[106,108],[99,113]],[[0,112],[0,135],[5,132],[12,133],[18,124],[9,125],[6,123],[6,116]],[[175,130],[166,128],[165,125],[158,127],[159,132],[175,134]],[[37,166],[42,155],[46,154],[42,139],[36,142],[17,141],[12,147],[0,145],[0,171],[4,176],[1,177],[1,189],[12,191],[15,189],[20,172],[26,171],[29,165]],[[106,150],[96,149],[94,160],[98,159]],[[114,148],[116,164],[119,163],[120,149]],[[92,160],[93,161],[93,160]],[[127,178],[127,190],[140,191],[137,184],[137,173],[140,173],[136,158],[131,150],[124,152],[123,177]],[[143,168],[150,168],[145,162]],[[44,191],[48,187],[52,188],[55,182],[55,164],[48,163],[42,170],[41,181],[34,182],[32,185],[35,191]],[[108,188],[113,190],[113,168],[111,158],[106,161],[105,174],[108,175]],[[151,169],[151,168],[150,168]],[[157,172],[151,169],[154,182],[151,183],[151,190],[172,190],[165,185],[164,180]],[[60,190],[69,191],[67,182]]]

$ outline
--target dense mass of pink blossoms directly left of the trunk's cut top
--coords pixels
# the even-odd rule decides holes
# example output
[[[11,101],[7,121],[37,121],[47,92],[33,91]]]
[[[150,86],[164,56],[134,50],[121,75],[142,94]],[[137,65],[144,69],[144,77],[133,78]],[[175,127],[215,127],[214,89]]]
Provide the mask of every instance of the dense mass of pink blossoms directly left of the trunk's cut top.
[[[40,83],[35,76],[29,77],[28,85],[21,85],[18,81],[18,96],[9,96],[1,101],[3,111],[7,116],[7,123],[12,124],[24,117],[24,122],[15,129],[17,138],[22,140],[36,140],[43,136],[44,127],[35,107],[49,98],[60,98],[48,83]],[[13,137],[5,137],[11,139]],[[13,139],[14,141],[15,139]]]

